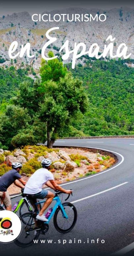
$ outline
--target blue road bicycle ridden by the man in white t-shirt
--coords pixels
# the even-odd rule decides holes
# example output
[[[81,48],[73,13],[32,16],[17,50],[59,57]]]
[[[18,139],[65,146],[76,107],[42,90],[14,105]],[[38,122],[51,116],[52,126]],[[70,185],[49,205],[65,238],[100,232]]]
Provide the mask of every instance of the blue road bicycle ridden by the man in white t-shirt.
[[[35,239],[38,239],[40,234],[45,235],[49,230],[49,222],[53,216],[53,223],[56,230],[60,233],[67,233],[73,229],[77,221],[77,210],[75,206],[70,202],[61,203],[59,196],[62,192],[57,191],[53,201],[56,201],[48,222],[36,220],[36,216],[39,213],[38,205],[41,206],[45,201],[35,203],[35,210],[33,212],[27,212],[20,216],[23,222],[23,228],[20,236],[17,238],[15,243],[18,246],[26,247],[34,243]],[[70,195],[65,199],[67,201]]]

